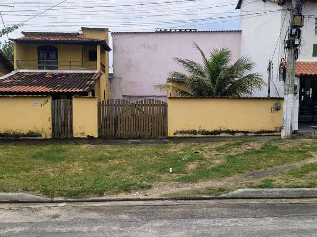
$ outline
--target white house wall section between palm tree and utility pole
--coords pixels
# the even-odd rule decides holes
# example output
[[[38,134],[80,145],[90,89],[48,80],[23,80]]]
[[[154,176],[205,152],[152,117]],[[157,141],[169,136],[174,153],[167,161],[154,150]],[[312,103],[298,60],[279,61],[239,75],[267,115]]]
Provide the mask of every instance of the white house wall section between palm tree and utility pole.
[[[242,3],[241,15],[243,12],[264,12],[271,10],[279,10],[281,6],[272,2],[262,2],[261,0],[256,1],[252,4]],[[275,45],[278,41],[281,26],[281,12],[270,13],[267,15],[259,14],[257,17],[242,16],[240,22],[241,29],[241,55],[245,55],[251,58],[251,60],[256,64],[254,71],[262,75],[262,78],[267,83],[268,82],[268,61],[272,59]],[[287,21],[288,24],[288,21]],[[282,36],[284,38],[284,36]],[[280,42],[278,42],[278,47],[275,56],[272,60],[275,75],[272,79],[280,93],[283,93],[281,84],[277,79],[277,70],[280,61]],[[262,90],[257,91],[254,96],[267,96],[268,88],[265,86]],[[271,96],[277,96],[277,91],[271,84]]]

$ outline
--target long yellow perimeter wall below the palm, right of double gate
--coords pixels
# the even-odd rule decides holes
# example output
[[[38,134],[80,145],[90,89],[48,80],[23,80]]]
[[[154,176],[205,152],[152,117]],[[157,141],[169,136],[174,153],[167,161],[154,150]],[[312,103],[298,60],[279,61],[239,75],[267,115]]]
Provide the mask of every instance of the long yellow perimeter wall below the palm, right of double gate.
[[[281,110],[271,113],[277,99],[168,98],[168,136],[205,130],[231,132],[279,132]]]

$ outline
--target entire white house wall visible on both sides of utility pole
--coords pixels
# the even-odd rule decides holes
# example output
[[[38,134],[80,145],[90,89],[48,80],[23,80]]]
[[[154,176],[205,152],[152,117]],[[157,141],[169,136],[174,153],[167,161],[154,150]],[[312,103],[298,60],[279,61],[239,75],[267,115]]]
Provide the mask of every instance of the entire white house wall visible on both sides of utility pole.
[[[267,82],[267,65],[268,60],[272,58],[275,50],[276,42],[277,49],[273,58],[273,82],[271,84],[271,96],[284,95],[284,83],[279,82],[278,69],[281,58],[285,58],[284,39],[289,28],[290,11],[287,8],[291,7],[291,2],[279,6],[272,2],[257,1],[252,4],[242,4],[241,11],[263,11],[263,10],[282,10],[278,13],[270,13],[267,16],[259,16],[251,19],[241,17],[240,28],[241,34],[241,54],[248,55],[254,62],[257,63],[256,72],[263,75],[263,79]],[[241,13],[243,14],[243,13]],[[303,7],[304,15],[317,15],[317,4],[305,2]],[[284,21],[285,19],[285,21]],[[302,28],[302,45],[300,47],[299,61],[317,61],[317,57],[313,57],[313,44],[317,43],[317,36],[315,35],[315,19],[305,18],[305,25]],[[299,92],[299,78],[296,78],[295,83]],[[276,88],[275,88],[276,86]],[[255,96],[266,96],[267,88],[257,91]],[[299,96],[295,97],[293,130],[298,130],[298,110],[299,110]]]

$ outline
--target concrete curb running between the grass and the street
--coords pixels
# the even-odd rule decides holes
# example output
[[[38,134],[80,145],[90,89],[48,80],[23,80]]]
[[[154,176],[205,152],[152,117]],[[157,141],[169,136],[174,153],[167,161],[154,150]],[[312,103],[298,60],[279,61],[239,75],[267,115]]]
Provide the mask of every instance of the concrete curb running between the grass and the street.
[[[220,196],[159,197],[125,196],[82,199],[56,199],[26,193],[0,193],[0,203],[63,203],[63,202],[118,202],[118,201],[164,201],[164,200],[224,200],[224,199],[300,199],[317,198],[317,188],[296,189],[238,189]]]

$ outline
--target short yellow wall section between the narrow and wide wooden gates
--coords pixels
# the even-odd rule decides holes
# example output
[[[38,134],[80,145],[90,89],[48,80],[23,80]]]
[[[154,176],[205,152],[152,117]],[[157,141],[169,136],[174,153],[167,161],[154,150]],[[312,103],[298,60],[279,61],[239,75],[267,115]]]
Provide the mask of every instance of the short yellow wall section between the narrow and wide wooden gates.
[[[98,137],[96,97],[73,97],[74,137]]]

